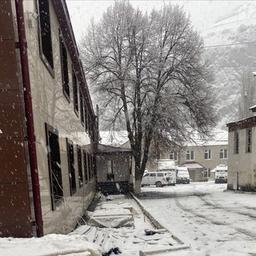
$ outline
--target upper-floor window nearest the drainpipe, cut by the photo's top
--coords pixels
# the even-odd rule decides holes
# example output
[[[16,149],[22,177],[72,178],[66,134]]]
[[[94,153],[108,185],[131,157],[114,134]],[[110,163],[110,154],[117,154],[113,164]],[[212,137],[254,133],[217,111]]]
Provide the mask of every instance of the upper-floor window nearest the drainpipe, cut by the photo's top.
[[[38,1],[40,53],[47,68],[53,70],[49,0]]]

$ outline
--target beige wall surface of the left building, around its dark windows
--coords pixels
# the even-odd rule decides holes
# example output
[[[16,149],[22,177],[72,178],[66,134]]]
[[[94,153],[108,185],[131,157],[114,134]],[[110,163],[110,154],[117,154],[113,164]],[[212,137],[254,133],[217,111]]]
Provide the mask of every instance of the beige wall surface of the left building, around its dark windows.
[[[24,1],[38,172],[45,234],[70,231],[77,217],[81,216],[84,208],[88,206],[95,191],[94,180],[91,180],[83,187],[79,187],[78,184],[77,152],[75,145],[83,146],[90,144],[90,137],[81,124],[80,113],[76,115],[74,112],[72,62],[69,53],[70,101],[68,101],[63,94],[59,47],[60,25],[51,1],[49,1],[49,3],[54,61],[53,75],[48,71],[40,57],[36,1]],[[59,133],[64,202],[54,211],[51,209],[45,123],[57,129]],[[72,196],[70,196],[69,190],[66,138],[70,139],[74,144],[77,192]]]

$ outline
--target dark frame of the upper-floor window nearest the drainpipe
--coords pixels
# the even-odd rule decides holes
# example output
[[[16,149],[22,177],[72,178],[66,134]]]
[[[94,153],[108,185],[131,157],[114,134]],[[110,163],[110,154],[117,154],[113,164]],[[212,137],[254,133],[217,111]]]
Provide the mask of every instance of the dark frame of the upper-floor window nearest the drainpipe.
[[[46,52],[45,52],[45,41],[43,39],[43,33],[42,31],[44,30],[42,27],[42,24],[46,24],[47,21],[44,20],[42,22],[42,9],[41,9],[41,5],[43,2],[47,2],[48,4],[48,25],[49,25],[49,38],[48,40],[50,41],[48,47],[50,49],[48,49],[50,51],[49,56],[46,56]],[[42,60],[42,62],[44,63],[46,69],[49,71],[50,75],[54,78],[54,57],[53,57],[53,47],[52,47],[52,33],[51,33],[51,14],[50,14],[50,1],[49,0],[37,0],[36,1],[36,11],[38,14],[38,41],[39,41],[39,55],[40,55],[40,59]],[[50,58],[50,59],[49,59]]]

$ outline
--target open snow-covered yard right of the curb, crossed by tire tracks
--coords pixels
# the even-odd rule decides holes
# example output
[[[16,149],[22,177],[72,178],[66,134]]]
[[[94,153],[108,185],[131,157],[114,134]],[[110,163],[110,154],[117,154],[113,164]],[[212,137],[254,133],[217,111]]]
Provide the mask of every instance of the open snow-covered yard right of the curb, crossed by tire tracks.
[[[226,184],[146,187],[145,208],[191,249],[175,255],[256,255],[256,194],[224,192]]]

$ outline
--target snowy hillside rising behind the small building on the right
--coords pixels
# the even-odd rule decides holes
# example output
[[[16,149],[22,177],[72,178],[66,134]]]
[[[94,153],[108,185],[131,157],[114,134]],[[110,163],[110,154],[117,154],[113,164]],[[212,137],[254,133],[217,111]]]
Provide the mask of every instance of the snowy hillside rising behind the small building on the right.
[[[242,77],[256,84],[256,2],[241,4],[219,18],[203,38],[214,72],[219,127],[224,128],[239,118]]]

